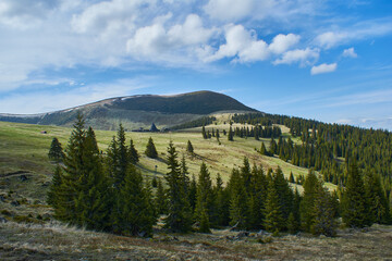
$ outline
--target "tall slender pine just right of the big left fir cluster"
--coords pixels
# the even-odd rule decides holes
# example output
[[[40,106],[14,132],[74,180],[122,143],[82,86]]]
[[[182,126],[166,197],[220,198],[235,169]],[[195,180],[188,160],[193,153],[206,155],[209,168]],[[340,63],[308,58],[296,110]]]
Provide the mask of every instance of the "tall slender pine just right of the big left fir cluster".
[[[186,233],[191,231],[192,212],[188,197],[184,191],[184,183],[181,177],[180,164],[177,162],[177,153],[172,141],[168,147],[168,173],[166,179],[168,182],[168,207],[169,214],[166,219],[166,227],[172,232]]]

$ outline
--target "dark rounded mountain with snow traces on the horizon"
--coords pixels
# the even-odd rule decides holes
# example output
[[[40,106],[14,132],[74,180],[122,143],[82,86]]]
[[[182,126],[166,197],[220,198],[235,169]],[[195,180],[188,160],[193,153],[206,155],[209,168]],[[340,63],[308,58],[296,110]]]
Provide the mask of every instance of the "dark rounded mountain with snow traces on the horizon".
[[[220,112],[257,112],[240,101],[213,91],[174,96],[139,95],[110,98],[85,105],[41,114],[0,114],[0,121],[71,126],[81,112],[98,129],[148,128],[151,123],[170,127]]]

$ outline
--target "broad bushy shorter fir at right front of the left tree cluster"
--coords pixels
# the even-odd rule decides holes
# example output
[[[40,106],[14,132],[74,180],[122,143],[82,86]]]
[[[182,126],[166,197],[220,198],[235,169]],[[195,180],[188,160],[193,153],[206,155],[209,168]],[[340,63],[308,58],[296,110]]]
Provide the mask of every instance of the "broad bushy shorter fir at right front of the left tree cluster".
[[[112,216],[115,233],[151,236],[156,223],[151,195],[143,185],[142,174],[131,164],[115,204],[120,210]]]

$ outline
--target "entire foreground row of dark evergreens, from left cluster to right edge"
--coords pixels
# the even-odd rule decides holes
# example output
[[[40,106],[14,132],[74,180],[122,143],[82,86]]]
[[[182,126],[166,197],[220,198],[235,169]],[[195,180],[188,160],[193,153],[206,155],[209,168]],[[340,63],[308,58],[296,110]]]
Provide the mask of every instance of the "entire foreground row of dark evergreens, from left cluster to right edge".
[[[120,125],[103,156],[93,128],[86,130],[78,116],[63,165],[57,167],[48,192],[54,216],[88,229],[137,236],[151,236],[161,214],[166,228],[182,233],[209,233],[212,227],[231,225],[237,229],[333,236],[338,216],[352,227],[391,220],[379,176],[363,177],[355,163],[339,192],[331,195],[310,171],[301,196],[290,187],[280,167],[265,173],[261,166],[250,167],[246,158],[243,166],[232,170],[226,186],[220,175],[212,182],[205,163],[198,177],[191,179],[185,158],[179,160],[170,142],[168,172],[152,192],[150,183],[135,167],[132,147],[132,141],[126,146]]]

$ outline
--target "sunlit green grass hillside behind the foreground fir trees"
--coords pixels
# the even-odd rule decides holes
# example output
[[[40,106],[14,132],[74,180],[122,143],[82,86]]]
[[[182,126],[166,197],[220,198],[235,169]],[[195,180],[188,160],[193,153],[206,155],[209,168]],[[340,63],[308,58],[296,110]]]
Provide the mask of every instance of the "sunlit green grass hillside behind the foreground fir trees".
[[[191,176],[197,177],[201,162],[205,162],[211,173],[212,178],[219,173],[224,182],[229,181],[233,167],[240,167],[243,164],[244,157],[249,159],[250,164],[262,165],[267,171],[269,167],[280,166],[283,173],[289,177],[292,172],[294,176],[306,175],[308,170],[305,167],[294,166],[275,157],[266,157],[259,154],[261,142],[269,145],[269,139],[255,140],[254,138],[238,138],[229,141],[223,136],[223,128],[228,129],[229,124],[223,124],[225,117],[220,117],[217,125],[212,124],[206,129],[221,130],[221,144],[212,137],[203,139],[200,128],[192,128],[183,132],[173,133],[126,133],[126,142],[132,138],[135,147],[140,154],[138,169],[142,173],[151,178],[154,175],[163,177],[167,173],[167,147],[170,140],[173,141],[179,160],[184,156],[187,162]],[[234,124],[233,126],[237,126]],[[46,130],[47,134],[41,134]],[[32,124],[0,122],[0,176],[16,171],[28,172],[30,177],[27,182],[21,183],[16,176],[0,177],[0,191],[15,190],[21,196],[28,198],[30,201],[45,201],[47,184],[51,181],[54,169],[53,163],[48,159],[48,150],[53,137],[57,137],[66,147],[72,128],[58,126],[40,126]],[[287,133],[284,129],[284,133]],[[115,132],[96,130],[98,146],[103,152],[107,150]],[[152,137],[159,158],[149,159],[144,154],[148,138]],[[191,140],[195,154],[186,152],[187,140]],[[157,166],[157,172],[155,171]],[[26,189],[28,185],[28,189]],[[331,189],[334,185],[327,184]],[[301,190],[301,186],[299,186]]]

